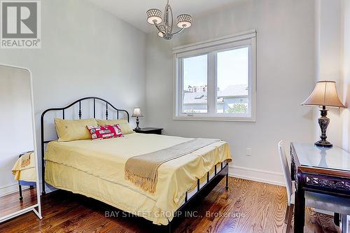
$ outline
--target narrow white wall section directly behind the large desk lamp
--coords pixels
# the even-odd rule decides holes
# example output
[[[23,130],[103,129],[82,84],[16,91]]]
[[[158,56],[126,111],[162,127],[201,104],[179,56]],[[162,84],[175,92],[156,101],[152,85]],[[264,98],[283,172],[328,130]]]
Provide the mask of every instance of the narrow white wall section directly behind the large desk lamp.
[[[342,1],[316,0],[315,8],[318,29],[316,32],[316,81],[335,81],[339,97],[342,97]],[[330,125],[327,129],[327,140],[335,146],[342,146],[342,130],[339,130],[343,128],[342,110],[328,109]],[[315,109],[315,122],[320,116],[320,111]],[[315,129],[315,140],[319,140],[321,129],[317,123]]]

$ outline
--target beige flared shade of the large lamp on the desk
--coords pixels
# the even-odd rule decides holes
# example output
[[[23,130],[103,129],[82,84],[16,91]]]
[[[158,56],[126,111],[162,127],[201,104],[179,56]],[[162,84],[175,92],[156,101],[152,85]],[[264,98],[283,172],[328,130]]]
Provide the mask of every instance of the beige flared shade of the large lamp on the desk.
[[[318,81],[310,96],[302,102],[304,106],[329,106],[345,108],[340,101],[334,81]]]

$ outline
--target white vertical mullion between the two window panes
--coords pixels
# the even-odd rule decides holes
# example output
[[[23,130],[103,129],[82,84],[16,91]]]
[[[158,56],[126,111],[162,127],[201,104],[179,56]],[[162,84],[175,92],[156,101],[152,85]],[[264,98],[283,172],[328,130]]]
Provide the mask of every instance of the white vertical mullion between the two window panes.
[[[209,52],[208,54],[208,113],[213,114],[216,111],[216,93],[215,93],[215,54]]]

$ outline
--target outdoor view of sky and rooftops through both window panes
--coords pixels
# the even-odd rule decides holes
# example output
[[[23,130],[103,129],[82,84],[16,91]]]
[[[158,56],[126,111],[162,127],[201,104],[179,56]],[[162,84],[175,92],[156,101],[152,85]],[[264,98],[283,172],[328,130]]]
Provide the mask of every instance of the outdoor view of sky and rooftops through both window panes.
[[[216,56],[216,113],[247,113],[249,48],[209,55]],[[182,112],[207,113],[208,88],[208,55],[183,58]]]

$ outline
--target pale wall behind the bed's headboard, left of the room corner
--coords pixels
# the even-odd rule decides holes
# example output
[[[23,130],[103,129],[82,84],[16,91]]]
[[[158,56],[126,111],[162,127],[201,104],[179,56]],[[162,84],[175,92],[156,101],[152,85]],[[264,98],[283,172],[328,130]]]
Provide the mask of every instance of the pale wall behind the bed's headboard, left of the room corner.
[[[86,0],[41,1],[41,15],[41,49],[0,52],[0,64],[33,73],[38,139],[41,113],[80,97],[102,97],[130,112],[146,106],[143,32]]]

